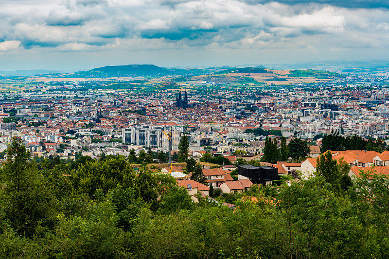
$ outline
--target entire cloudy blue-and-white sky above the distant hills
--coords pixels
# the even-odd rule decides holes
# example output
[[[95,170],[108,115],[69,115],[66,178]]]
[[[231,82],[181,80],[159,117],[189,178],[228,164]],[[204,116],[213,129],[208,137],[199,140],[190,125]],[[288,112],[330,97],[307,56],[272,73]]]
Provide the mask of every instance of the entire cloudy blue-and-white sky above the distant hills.
[[[0,70],[389,60],[388,0],[0,0]]]

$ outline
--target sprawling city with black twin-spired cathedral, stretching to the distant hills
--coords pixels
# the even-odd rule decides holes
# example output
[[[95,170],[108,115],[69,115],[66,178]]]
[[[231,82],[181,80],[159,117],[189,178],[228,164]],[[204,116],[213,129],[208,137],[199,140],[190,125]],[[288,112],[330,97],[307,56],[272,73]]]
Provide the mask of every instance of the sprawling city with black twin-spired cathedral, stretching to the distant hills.
[[[246,72],[236,75],[236,70]],[[307,72],[311,70],[299,70]],[[287,73],[297,74],[283,71]],[[252,82],[238,84],[242,77]],[[132,149],[137,155],[149,149],[168,152],[165,130],[172,132],[172,152],[178,152],[185,135],[195,160],[210,152],[235,163],[239,150],[252,155],[246,160],[260,159],[266,136],[280,144],[283,135],[287,143],[298,135],[315,149],[325,134],[342,128],[389,144],[385,76],[331,73],[326,79],[294,79],[314,82],[281,85],[254,80],[272,77],[263,68],[131,79],[3,76],[0,148],[3,152],[18,136],[34,157],[96,158],[102,152],[128,156]]]

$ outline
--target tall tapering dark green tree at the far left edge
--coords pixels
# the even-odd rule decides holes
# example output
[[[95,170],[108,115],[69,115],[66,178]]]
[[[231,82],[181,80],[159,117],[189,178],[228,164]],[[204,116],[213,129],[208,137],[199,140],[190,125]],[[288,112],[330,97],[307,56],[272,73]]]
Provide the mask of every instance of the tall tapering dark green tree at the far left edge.
[[[13,138],[6,152],[0,171],[1,214],[18,234],[32,237],[38,225],[53,227],[57,201],[20,139]]]

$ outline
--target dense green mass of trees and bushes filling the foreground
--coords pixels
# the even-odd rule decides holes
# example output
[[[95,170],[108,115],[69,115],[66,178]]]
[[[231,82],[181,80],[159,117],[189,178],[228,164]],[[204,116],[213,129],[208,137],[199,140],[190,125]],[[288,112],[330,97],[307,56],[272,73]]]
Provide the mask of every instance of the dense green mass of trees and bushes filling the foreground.
[[[389,257],[385,176],[362,174],[347,190],[324,177],[254,186],[231,210],[195,204],[173,178],[135,172],[123,156],[37,163],[15,140],[7,156],[0,258]]]

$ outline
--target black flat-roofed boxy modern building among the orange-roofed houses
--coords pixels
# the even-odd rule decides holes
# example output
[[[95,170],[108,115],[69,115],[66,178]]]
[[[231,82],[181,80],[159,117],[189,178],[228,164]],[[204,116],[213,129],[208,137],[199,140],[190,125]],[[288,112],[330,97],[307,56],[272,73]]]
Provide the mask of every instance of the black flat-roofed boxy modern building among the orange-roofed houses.
[[[265,185],[266,182],[278,180],[278,169],[268,165],[238,165],[239,176],[247,177],[254,184]]]

